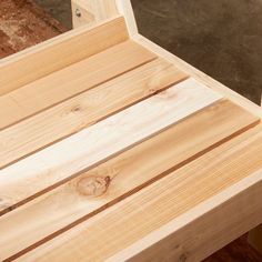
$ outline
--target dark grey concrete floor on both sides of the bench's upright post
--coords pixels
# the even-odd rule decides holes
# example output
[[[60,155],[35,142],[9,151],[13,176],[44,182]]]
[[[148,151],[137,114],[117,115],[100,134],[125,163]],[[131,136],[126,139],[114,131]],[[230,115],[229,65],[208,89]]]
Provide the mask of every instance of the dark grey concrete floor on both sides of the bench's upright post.
[[[70,0],[36,0],[71,27]],[[259,103],[262,0],[132,0],[139,30]]]

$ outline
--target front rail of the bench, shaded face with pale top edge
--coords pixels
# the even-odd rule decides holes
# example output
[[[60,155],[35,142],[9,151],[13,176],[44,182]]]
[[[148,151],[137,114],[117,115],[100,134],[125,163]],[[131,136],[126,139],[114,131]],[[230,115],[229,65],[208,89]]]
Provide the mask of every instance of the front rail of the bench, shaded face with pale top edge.
[[[262,169],[107,261],[204,260],[261,223],[262,202],[258,198],[262,190],[261,177]],[[235,208],[241,212],[235,212]],[[134,253],[139,254],[133,256]],[[212,256],[208,261],[212,261]]]

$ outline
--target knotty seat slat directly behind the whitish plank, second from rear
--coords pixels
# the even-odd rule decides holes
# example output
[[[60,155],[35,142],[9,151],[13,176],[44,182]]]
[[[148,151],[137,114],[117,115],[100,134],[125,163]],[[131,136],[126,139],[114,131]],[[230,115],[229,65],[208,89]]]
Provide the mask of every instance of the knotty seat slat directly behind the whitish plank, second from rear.
[[[4,129],[0,132],[0,169],[185,78],[157,59]],[[85,82],[81,80],[81,84]]]

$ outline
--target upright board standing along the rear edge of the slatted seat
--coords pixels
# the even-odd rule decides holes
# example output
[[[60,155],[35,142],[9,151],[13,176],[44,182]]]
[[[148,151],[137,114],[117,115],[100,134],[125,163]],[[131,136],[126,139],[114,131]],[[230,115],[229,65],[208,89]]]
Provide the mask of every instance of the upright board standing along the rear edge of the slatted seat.
[[[129,39],[122,17],[73,30],[0,61],[0,95]]]

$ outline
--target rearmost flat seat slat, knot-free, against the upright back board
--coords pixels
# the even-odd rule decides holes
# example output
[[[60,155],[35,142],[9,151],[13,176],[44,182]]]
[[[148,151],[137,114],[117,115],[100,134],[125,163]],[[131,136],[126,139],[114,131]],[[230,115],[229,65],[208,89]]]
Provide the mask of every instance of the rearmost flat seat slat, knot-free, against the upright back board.
[[[125,41],[23,85],[0,97],[0,130],[155,58],[139,44]]]

